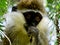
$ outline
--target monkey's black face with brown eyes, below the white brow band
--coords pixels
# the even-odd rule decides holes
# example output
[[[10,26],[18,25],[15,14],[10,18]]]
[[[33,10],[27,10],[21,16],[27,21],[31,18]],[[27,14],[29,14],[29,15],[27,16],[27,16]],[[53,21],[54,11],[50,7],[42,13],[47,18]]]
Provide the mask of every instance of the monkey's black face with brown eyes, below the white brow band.
[[[37,26],[42,19],[42,15],[39,12],[28,11],[24,12],[23,15],[28,26]]]

